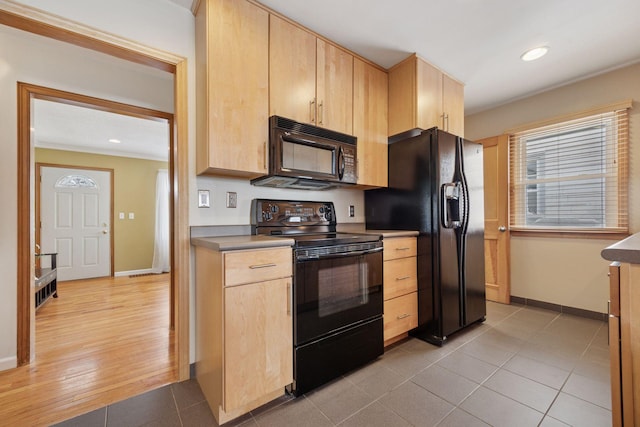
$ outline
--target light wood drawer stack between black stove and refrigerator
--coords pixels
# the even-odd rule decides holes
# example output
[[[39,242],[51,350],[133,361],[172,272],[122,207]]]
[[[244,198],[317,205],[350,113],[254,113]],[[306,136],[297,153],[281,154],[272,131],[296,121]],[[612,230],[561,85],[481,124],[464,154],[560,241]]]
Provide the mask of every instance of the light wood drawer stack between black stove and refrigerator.
[[[417,239],[383,239],[384,345],[393,344],[418,326]]]

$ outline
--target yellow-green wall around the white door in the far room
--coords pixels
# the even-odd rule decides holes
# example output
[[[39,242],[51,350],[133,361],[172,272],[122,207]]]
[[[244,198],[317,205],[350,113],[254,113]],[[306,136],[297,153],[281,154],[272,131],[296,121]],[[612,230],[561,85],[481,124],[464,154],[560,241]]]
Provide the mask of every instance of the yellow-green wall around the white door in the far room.
[[[113,169],[114,271],[144,270],[153,261],[156,174],[167,162],[36,148],[35,161]],[[124,212],[125,219],[118,214]],[[129,219],[133,212],[135,219]]]

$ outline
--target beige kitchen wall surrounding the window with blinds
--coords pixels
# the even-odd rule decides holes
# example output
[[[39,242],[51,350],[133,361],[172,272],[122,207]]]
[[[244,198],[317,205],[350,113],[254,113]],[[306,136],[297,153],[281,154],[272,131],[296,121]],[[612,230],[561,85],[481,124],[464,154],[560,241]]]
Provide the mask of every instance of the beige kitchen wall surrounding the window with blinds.
[[[509,128],[629,98],[634,99],[630,117],[629,219],[631,233],[635,233],[640,231],[640,64],[467,116],[465,133],[469,139],[482,139]],[[600,251],[614,241],[512,237],[511,294],[606,312],[609,263],[600,257]]]

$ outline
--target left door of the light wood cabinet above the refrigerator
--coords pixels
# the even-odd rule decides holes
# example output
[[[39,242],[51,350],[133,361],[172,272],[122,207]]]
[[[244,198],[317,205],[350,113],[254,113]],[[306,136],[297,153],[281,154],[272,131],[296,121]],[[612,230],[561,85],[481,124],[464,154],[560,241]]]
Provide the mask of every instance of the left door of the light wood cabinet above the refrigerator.
[[[436,67],[418,61],[418,123],[417,127],[429,129],[443,127],[442,117],[442,72]]]

